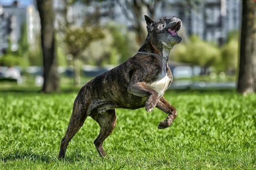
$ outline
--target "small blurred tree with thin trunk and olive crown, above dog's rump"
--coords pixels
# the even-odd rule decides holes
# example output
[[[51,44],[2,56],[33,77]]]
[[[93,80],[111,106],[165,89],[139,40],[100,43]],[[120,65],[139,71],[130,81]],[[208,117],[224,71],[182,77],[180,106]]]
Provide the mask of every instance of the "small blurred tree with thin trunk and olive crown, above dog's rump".
[[[97,26],[67,28],[64,42],[66,44],[67,53],[72,55],[75,86],[79,86],[80,84],[79,55],[81,55],[81,53],[89,46],[91,42],[103,37],[104,34],[101,31],[101,28]]]

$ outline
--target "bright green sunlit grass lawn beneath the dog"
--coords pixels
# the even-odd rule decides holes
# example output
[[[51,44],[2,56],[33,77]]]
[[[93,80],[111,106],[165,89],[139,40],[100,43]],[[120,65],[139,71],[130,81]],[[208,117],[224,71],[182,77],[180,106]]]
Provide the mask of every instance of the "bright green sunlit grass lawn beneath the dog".
[[[168,91],[178,110],[170,128],[166,114],[117,109],[117,126],[101,159],[90,117],[58,159],[77,92],[0,92],[1,170],[256,170],[256,95],[232,91]]]

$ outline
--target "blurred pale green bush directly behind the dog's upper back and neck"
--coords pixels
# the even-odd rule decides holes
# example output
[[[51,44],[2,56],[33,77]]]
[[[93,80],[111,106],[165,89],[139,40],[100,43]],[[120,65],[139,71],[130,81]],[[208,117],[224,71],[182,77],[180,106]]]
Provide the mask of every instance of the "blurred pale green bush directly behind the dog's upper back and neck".
[[[104,25],[103,32],[105,37],[92,42],[83,51],[81,61],[97,66],[118,65],[137,53],[139,46],[134,43],[135,33],[127,31],[125,25],[110,22]]]

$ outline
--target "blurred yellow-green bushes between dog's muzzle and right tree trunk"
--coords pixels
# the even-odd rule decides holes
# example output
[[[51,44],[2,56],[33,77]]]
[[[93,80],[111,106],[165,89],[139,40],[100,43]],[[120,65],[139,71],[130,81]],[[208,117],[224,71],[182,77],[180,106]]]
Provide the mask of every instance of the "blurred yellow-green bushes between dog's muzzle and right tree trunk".
[[[230,32],[227,43],[222,46],[192,35],[175,46],[170,57],[176,62],[201,66],[205,73],[211,69],[216,73],[234,74],[238,66],[238,31]]]

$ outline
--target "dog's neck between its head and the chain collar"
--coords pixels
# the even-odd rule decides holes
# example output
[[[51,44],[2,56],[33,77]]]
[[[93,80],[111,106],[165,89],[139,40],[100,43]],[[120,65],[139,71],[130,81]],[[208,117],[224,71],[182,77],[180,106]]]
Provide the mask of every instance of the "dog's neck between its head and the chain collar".
[[[146,40],[144,41],[143,45],[139,49],[139,51],[147,52],[147,53],[155,53],[155,54],[161,55],[163,57],[168,57],[173,46],[170,46],[170,45],[166,44],[165,42],[162,42],[162,46],[161,46],[161,42],[156,43],[156,44],[158,44],[158,45],[153,45],[150,43],[149,35],[148,35]]]

